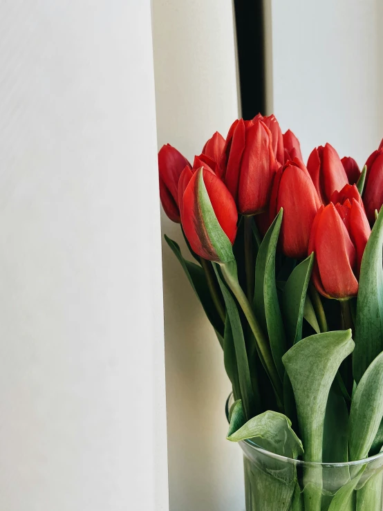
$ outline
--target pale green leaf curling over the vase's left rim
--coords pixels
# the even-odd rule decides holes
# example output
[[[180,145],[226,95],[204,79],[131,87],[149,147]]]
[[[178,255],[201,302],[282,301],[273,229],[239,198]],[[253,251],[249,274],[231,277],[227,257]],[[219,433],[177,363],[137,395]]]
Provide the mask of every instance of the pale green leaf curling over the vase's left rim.
[[[236,431],[232,431],[230,423],[230,434],[227,435],[227,440],[231,442],[241,442],[251,438],[259,447],[280,456],[297,458],[303,454],[303,445],[291,428],[291,420],[277,411],[265,411],[248,420]]]

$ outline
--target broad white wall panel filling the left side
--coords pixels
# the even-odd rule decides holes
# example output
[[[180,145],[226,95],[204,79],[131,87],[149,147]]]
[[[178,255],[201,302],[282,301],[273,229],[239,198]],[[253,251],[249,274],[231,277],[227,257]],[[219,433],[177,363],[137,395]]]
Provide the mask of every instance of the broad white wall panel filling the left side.
[[[149,0],[0,7],[0,508],[167,510]]]

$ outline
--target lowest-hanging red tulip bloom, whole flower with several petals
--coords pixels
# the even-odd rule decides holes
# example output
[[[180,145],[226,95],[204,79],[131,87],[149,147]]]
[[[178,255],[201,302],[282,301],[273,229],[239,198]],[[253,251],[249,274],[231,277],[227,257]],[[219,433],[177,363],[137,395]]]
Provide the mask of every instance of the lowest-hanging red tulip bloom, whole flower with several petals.
[[[348,299],[357,295],[360,263],[370,235],[361,205],[346,199],[321,206],[312,223],[308,253],[315,252],[312,281],[328,298]]]

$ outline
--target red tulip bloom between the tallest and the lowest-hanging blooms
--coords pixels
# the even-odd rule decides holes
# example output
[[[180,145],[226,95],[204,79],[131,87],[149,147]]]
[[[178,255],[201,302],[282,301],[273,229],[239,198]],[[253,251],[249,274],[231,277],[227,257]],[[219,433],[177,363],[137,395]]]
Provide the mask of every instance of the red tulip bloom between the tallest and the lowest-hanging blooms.
[[[283,207],[279,242],[288,257],[306,257],[308,239],[321,201],[303,163],[295,158],[277,172],[270,198],[270,223]]]

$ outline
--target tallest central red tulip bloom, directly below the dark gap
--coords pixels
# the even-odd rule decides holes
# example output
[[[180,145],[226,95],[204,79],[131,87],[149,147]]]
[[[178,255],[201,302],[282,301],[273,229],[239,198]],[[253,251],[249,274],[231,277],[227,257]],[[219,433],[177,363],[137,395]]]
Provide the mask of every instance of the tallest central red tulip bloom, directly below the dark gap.
[[[272,136],[264,122],[234,121],[227,134],[221,169],[241,214],[252,215],[266,209],[277,167]]]

